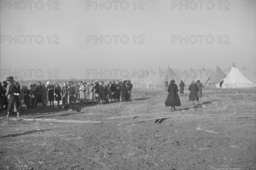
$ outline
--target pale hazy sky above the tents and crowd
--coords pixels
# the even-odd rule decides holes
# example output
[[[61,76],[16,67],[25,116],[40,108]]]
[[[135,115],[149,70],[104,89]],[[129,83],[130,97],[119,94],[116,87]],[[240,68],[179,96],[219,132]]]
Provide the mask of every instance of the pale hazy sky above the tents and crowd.
[[[61,0],[54,4],[52,1],[50,10],[48,1],[42,1],[44,7],[41,10],[40,3],[36,6],[38,9],[35,8],[36,1],[32,3],[31,10],[29,3],[25,8],[18,1],[17,10],[15,6],[9,9],[9,2],[1,1],[1,81],[9,76],[9,69],[12,72],[17,69],[17,75],[21,76],[24,75],[21,69],[25,69],[24,80],[35,79],[37,69],[43,70],[41,79],[86,79],[86,72],[90,69],[93,72],[94,69],[97,72],[100,69],[103,69],[102,72],[106,69],[128,69],[129,74],[134,69],[153,69],[156,72],[159,66],[166,69],[168,64],[172,69],[202,69],[203,66],[205,69],[215,69],[217,65],[227,69],[235,63],[240,69],[244,65],[252,73],[256,69],[255,0],[222,1],[221,10],[219,1],[212,1],[212,10],[211,3],[206,5],[208,1],[202,4],[202,9],[200,3],[195,1],[195,10],[190,9],[194,8],[195,3],[189,6],[187,1],[188,10],[185,6],[181,6],[180,10],[180,4],[177,4],[180,1],[171,0],[137,1],[136,10],[134,0],[119,1],[116,10],[113,1],[109,1],[112,5],[109,10],[106,9],[109,3],[104,6],[105,1],[102,1],[102,10],[100,6],[94,9],[91,3],[95,1]],[[126,2],[129,7],[124,10]],[[58,10],[53,10],[54,6]],[[24,7],[24,10],[19,7]],[[144,10],[138,10],[139,7]],[[224,7],[229,10],[224,10]],[[9,35],[14,39],[17,35],[17,43],[15,40],[9,42]],[[26,37],[25,43],[20,35]],[[27,35],[34,36],[31,44]],[[37,35],[44,38],[41,44],[39,36],[38,43],[35,41]],[[110,39],[106,36],[102,38],[102,44],[100,40],[95,44],[94,40],[88,39],[94,38],[94,35],[98,38],[100,35],[110,35],[112,41],[107,44]],[[116,36],[116,43],[113,35],[119,35]],[[122,35],[125,35],[123,41],[120,40]],[[174,39],[180,35],[183,38],[186,35],[195,36],[188,38],[186,44],[185,40],[180,43],[180,40]],[[202,35],[202,43],[198,35]],[[208,42],[207,35],[210,35]],[[125,44],[126,37],[129,40]],[[197,41],[193,44],[194,37],[197,37]],[[210,44],[211,37],[214,41]],[[54,44],[54,40],[58,44]],[[27,69],[34,69],[31,78]],[[117,73],[120,77],[120,71]],[[41,72],[38,72],[38,77],[40,75]],[[99,76],[96,75],[96,78]],[[89,76],[93,77],[94,74]]]

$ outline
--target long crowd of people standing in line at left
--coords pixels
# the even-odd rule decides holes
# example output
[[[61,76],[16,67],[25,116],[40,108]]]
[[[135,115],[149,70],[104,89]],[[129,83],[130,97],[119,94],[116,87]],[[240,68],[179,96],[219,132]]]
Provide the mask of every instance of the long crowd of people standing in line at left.
[[[94,83],[74,83],[73,81],[65,81],[62,84],[57,84],[55,81],[51,84],[49,81],[45,84],[29,84],[22,86],[13,77],[6,78],[6,81],[1,84],[1,107],[8,109],[7,118],[10,112],[17,112],[19,119],[20,105],[35,109],[36,107],[57,106],[64,108],[68,104],[81,105],[84,103],[93,104],[96,100],[97,104],[130,101],[131,89],[133,85],[130,80],[125,81],[109,81],[99,84]],[[54,104],[57,101],[57,105]],[[62,101],[62,105],[60,105]],[[2,109],[1,108],[1,109]]]

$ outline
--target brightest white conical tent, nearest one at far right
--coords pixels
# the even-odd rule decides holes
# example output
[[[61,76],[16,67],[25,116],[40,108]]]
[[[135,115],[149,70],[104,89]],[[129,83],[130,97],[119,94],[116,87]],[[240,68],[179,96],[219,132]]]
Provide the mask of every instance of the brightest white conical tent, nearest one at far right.
[[[220,83],[220,82],[219,82]],[[216,86],[219,86],[219,83]],[[256,84],[246,78],[240,70],[233,66],[230,69],[230,73],[223,79],[222,88],[248,88],[256,87]]]

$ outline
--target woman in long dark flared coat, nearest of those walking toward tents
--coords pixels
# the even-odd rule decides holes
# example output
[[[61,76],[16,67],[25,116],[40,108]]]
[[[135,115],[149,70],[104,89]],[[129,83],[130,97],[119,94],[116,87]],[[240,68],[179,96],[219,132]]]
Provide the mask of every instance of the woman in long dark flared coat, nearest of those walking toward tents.
[[[165,105],[166,107],[168,106],[173,107],[174,109],[173,110],[171,109],[172,112],[175,111],[175,106],[181,106],[180,98],[179,98],[179,95],[177,94],[178,91],[179,90],[178,90],[177,84],[175,84],[174,80],[171,80],[167,89],[167,92],[169,92],[169,94],[166,99]]]

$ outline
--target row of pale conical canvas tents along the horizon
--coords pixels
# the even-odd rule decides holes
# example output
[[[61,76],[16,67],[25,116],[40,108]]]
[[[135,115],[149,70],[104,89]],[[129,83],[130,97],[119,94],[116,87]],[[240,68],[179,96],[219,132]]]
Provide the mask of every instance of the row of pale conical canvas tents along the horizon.
[[[227,74],[225,74],[225,73]],[[237,66],[233,65],[231,69],[221,70],[217,66],[215,70],[201,69],[189,70],[188,72],[177,74],[176,70],[172,70],[170,67],[163,72],[160,68],[156,72],[152,69],[150,72],[143,74],[137,73],[136,76],[130,75],[128,78],[123,80],[131,80],[134,88],[143,89],[164,89],[165,81],[168,83],[173,79],[177,85],[180,81],[183,81],[186,86],[189,86],[192,80],[200,80],[204,86],[207,87],[219,87],[221,81],[223,81],[222,88],[249,88],[256,87],[256,75],[250,73],[245,67],[241,71]]]

